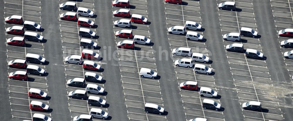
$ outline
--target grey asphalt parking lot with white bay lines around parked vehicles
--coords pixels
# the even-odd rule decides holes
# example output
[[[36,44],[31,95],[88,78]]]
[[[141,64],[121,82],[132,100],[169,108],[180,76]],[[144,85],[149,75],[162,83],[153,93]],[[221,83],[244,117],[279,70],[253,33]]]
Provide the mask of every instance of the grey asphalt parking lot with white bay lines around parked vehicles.
[[[236,2],[236,11],[219,10],[223,0],[184,0],[181,5],[166,4],[162,0],[130,0],[131,14],[140,14],[149,24],[132,23],[134,35],[151,39],[150,45],[135,44],[133,50],[117,48],[123,40],[114,36],[122,27],[115,27],[114,21],[123,18],[114,17],[112,1],[79,0],[77,7],[89,8],[95,16],[89,18],[96,27],[80,27],[76,22],[60,20],[59,15],[69,11],[59,9],[59,4],[67,0],[3,0],[0,1],[0,36],[5,38],[1,44],[3,64],[1,64],[0,99],[2,120],[32,120],[35,113],[51,117],[52,120],[73,120],[81,114],[89,114],[91,108],[100,108],[109,113],[106,120],[132,121],[185,121],[196,117],[208,121],[281,121],[292,120],[292,75],[293,60],[285,59],[283,54],[292,49],[280,47],[280,42],[290,38],[279,37],[278,31],[293,28],[292,0],[230,0]],[[6,34],[5,30],[14,24],[5,23],[5,17],[22,15],[24,20],[40,24],[45,42],[27,41],[25,47],[7,45],[8,38],[17,35]],[[88,18],[86,16],[78,16]],[[129,19],[129,18],[125,18]],[[203,35],[202,41],[187,40],[185,36],[170,34],[168,28],[184,26],[185,22],[195,21],[202,30],[187,30]],[[19,25],[18,25],[19,26]],[[257,31],[259,37],[241,37],[240,42],[225,41],[224,34],[240,32],[241,27]],[[97,49],[79,46],[79,28],[88,28],[97,33],[91,39],[98,43]],[[25,30],[29,31],[29,30]],[[20,37],[20,36],[18,36]],[[263,59],[246,58],[244,53],[226,51],[226,45],[240,43],[245,49],[256,49],[264,53]],[[213,69],[210,75],[195,73],[192,68],[176,67],[174,61],[187,58],[172,55],[172,49],[191,48],[193,52],[210,57],[204,64]],[[102,59],[93,60],[102,70],[94,72],[84,70],[82,65],[67,64],[64,58],[81,55],[88,49],[98,53]],[[28,75],[27,81],[11,80],[11,72],[22,69],[9,68],[7,62],[25,59],[25,54],[34,53],[46,58],[47,63],[37,65],[45,69],[46,75]],[[84,59],[87,60],[87,59]],[[158,78],[139,76],[141,68],[158,72]],[[103,77],[97,84],[105,89],[105,94],[88,94],[107,101],[107,106],[89,106],[86,100],[71,99],[70,91],[84,90],[84,87],[70,87],[67,80],[83,78],[85,72],[94,72]],[[218,98],[201,97],[198,91],[179,89],[179,84],[195,81],[200,87],[209,87],[219,94]],[[48,99],[28,97],[28,89],[37,88],[47,92]],[[211,99],[222,105],[222,110],[202,108],[203,99]],[[31,101],[41,101],[50,106],[48,112],[32,111]],[[263,109],[259,112],[243,110],[242,104],[248,101],[260,101]],[[163,115],[145,113],[144,104],[154,103],[165,108]],[[102,120],[93,118],[93,120]]]

